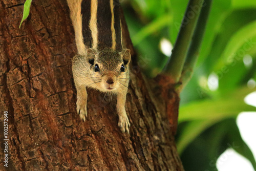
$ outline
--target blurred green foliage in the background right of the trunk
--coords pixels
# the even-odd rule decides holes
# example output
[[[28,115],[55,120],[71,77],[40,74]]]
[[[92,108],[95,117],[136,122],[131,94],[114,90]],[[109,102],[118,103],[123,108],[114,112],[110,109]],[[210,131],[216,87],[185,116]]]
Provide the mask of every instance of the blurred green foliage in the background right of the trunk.
[[[139,65],[154,77],[168,59],[160,50],[160,40],[175,44],[188,0],[122,3]],[[248,66],[243,61],[246,55],[252,59]],[[218,76],[215,91],[207,84],[212,73]],[[256,91],[247,86],[251,78],[256,80],[256,1],[214,0],[194,75],[181,93],[176,139],[185,170],[216,170],[217,159],[227,148],[246,157],[256,170],[236,124],[239,113],[256,111],[244,102]]]

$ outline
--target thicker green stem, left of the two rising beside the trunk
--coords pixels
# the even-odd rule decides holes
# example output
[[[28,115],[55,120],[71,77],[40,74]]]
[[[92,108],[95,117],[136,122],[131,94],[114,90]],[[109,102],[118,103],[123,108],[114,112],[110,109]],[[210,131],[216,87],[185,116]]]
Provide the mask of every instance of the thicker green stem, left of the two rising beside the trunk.
[[[174,82],[178,82],[181,77],[185,58],[202,5],[202,0],[189,0],[172,55],[163,70],[163,73],[169,75]]]

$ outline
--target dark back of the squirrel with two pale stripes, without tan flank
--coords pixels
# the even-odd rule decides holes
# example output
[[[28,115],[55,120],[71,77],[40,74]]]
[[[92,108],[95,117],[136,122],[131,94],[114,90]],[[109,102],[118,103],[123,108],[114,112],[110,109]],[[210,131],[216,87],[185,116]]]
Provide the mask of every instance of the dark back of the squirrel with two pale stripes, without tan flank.
[[[119,0],[82,0],[84,45],[97,50],[122,50]]]

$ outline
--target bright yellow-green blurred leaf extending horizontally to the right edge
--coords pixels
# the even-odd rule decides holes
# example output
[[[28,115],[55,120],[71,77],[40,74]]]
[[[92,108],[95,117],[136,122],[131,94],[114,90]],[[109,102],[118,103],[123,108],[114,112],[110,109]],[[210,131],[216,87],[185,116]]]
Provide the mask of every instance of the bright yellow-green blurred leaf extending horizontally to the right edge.
[[[255,111],[256,108],[244,102],[244,97],[256,88],[239,88],[220,98],[191,102],[180,108],[179,122],[203,119],[224,119],[236,117],[243,111]],[[234,115],[235,114],[235,115]]]

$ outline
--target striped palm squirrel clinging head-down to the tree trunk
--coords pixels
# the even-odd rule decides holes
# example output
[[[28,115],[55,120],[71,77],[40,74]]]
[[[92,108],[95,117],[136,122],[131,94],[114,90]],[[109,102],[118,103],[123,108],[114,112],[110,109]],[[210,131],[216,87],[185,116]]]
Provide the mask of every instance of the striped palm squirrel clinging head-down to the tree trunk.
[[[123,133],[129,133],[130,122],[124,105],[131,54],[122,46],[120,3],[116,0],[67,2],[78,52],[72,59],[77,113],[86,121],[87,88],[114,93],[117,95],[118,126]]]

